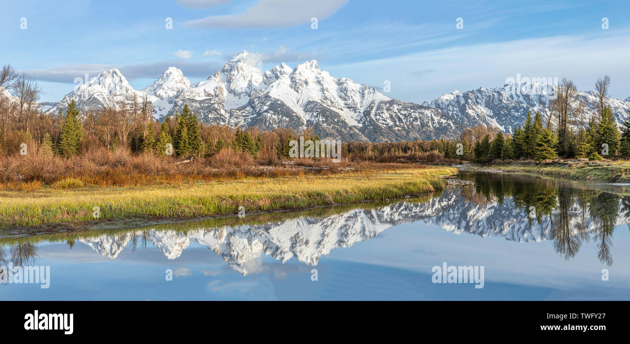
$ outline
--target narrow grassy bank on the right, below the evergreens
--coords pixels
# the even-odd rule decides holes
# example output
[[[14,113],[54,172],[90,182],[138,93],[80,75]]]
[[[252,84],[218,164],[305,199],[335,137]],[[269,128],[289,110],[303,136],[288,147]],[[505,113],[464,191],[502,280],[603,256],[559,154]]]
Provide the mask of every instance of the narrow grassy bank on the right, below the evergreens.
[[[602,180],[606,182],[630,182],[630,162],[598,162],[568,160],[559,162],[501,162],[473,167],[473,169],[503,172],[527,172],[576,180]]]

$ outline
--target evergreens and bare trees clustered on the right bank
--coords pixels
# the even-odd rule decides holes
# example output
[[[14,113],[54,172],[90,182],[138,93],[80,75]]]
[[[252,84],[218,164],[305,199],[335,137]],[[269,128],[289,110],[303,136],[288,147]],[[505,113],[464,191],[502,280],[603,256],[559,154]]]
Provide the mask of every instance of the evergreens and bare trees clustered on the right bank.
[[[586,104],[579,101],[575,84],[563,79],[557,97],[547,104],[546,118],[540,111],[527,113],[525,123],[513,129],[512,135],[488,129],[478,140],[461,141],[472,148],[469,158],[485,163],[491,160],[554,158],[588,158],[602,160],[630,156],[630,122],[617,127],[612,109],[606,104],[610,77],[597,80],[598,104],[595,114],[585,122]],[[476,128],[479,132],[479,128]],[[464,134],[462,134],[464,135]],[[470,135],[469,135],[470,136]]]

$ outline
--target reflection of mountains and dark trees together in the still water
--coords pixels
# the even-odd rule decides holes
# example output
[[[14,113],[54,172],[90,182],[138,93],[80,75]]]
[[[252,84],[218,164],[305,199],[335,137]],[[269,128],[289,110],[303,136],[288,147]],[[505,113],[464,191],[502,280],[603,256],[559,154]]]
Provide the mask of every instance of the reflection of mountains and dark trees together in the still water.
[[[291,258],[315,266],[335,248],[370,240],[388,228],[422,221],[456,235],[501,237],[522,245],[553,241],[562,257],[574,257],[582,245],[596,245],[598,259],[612,265],[615,226],[630,223],[630,196],[590,184],[515,177],[501,174],[461,174],[469,184],[451,186],[428,199],[410,199],[376,208],[308,214],[268,223],[204,226],[185,230],[148,229],[77,241],[100,255],[115,259],[123,250],[151,243],[168,259],[177,259],[192,244],[214,251],[232,269],[247,275],[251,262],[268,255],[280,262]],[[610,188],[610,186],[608,186]],[[627,192],[626,192],[627,194]],[[181,226],[178,226],[181,228]],[[23,252],[13,248],[16,257]],[[11,253],[11,254],[13,254]],[[11,256],[12,257],[12,256]],[[595,258],[595,257],[593,257]],[[11,258],[5,258],[9,260]]]

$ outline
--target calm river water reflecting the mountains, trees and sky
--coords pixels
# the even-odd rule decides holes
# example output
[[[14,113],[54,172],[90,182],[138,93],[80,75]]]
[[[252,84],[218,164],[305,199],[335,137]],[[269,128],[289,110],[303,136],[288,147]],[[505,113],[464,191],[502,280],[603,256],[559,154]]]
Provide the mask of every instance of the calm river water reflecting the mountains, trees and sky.
[[[425,199],[5,244],[0,265],[50,266],[50,287],[0,299],[630,299],[630,186],[459,178]],[[483,288],[433,283],[444,262],[483,267]]]

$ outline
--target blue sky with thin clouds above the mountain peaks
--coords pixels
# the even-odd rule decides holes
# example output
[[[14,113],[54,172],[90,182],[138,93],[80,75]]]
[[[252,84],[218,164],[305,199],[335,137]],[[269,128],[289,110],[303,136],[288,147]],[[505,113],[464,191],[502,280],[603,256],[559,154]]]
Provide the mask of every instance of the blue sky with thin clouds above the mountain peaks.
[[[611,96],[630,97],[628,1],[0,1],[0,64],[33,75],[42,101],[110,67],[136,89],[171,65],[198,82],[242,50],[264,69],[316,59],[336,77],[388,80],[388,96],[416,103],[517,74],[582,91],[608,74]]]

